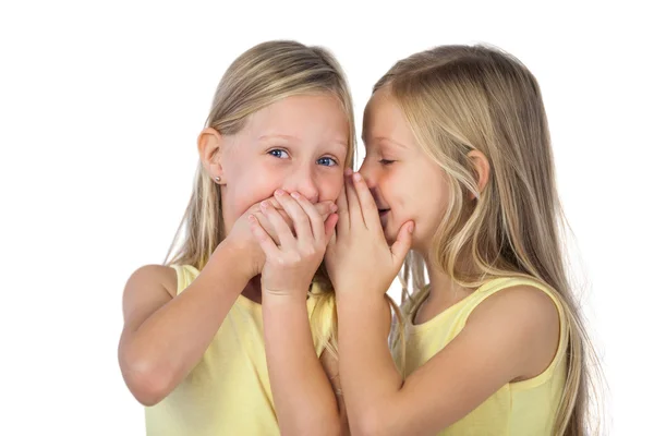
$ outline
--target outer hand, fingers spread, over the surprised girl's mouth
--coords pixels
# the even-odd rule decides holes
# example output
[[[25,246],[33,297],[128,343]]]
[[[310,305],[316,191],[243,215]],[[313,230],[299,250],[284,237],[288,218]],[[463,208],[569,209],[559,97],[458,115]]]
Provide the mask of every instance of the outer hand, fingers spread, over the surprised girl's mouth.
[[[300,193],[289,195],[277,190],[275,197],[293,222],[291,229],[275,207],[268,202],[262,203],[263,219],[267,219],[275,229],[279,245],[264,230],[257,217],[249,217],[252,232],[266,254],[262,291],[269,295],[290,295],[304,300],[325,256],[338,216],[331,214],[325,221],[316,207]],[[332,211],[336,211],[336,207]]]

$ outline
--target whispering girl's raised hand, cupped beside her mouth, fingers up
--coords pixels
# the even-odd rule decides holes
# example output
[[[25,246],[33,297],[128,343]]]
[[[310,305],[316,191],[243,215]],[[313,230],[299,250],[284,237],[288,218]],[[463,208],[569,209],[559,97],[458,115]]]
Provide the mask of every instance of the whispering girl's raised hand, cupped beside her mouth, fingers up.
[[[337,199],[338,225],[325,257],[336,294],[385,294],[411,247],[413,221],[407,221],[388,246],[379,211],[363,177],[346,175]]]

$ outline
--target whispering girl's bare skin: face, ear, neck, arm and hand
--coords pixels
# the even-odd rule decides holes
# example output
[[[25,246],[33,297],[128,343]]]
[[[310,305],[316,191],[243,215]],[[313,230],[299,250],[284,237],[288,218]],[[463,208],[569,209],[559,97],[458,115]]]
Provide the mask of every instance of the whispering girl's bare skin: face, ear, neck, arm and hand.
[[[537,289],[506,289],[481,303],[445,349],[402,380],[388,349],[390,314],[384,295],[410,249],[428,258],[431,235],[448,202],[447,182],[387,89],[368,102],[364,141],[366,158],[361,173],[347,177],[326,256],[337,292],[348,419],[352,434],[432,435],[501,386],[541,374],[557,351],[558,312]],[[483,190],[488,161],[479,152],[469,157]],[[473,292],[436,268],[428,275],[429,298],[415,323]]]

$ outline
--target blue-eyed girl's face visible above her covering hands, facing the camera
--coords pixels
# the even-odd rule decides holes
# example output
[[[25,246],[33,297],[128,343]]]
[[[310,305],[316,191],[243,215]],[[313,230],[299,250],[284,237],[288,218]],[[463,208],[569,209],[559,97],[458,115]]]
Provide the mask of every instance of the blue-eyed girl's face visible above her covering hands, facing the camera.
[[[283,98],[253,113],[226,136],[220,164],[226,230],[275,190],[296,191],[312,203],[336,201],[343,185],[349,124],[329,95]]]

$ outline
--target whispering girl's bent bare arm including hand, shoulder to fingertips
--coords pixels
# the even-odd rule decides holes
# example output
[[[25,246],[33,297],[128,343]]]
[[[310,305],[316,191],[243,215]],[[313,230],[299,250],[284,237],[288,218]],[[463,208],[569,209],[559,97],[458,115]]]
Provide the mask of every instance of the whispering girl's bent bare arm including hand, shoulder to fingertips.
[[[327,253],[339,319],[340,377],[356,435],[433,435],[501,386],[541,374],[559,339],[558,311],[531,287],[488,296],[462,331],[403,383],[387,338],[385,294],[411,246],[408,221],[389,247],[377,206],[360,174],[339,197],[337,238]]]

